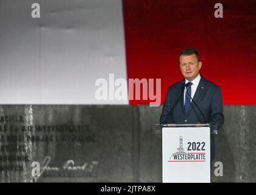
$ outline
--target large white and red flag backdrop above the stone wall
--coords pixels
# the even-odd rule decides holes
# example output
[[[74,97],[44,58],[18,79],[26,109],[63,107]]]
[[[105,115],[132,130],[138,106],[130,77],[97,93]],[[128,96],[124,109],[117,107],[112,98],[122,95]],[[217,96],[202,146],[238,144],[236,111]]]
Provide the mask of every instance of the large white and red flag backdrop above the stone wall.
[[[0,104],[149,103],[98,101],[95,82],[110,73],[162,79],[163,103],[183,79],[177,56],[187,47],[201,53],[201,74],[225,105],[256,104],[253,0],[220,1],[223,18],[214,0],[37,1],[40,18],[34,1],[0,2]]]

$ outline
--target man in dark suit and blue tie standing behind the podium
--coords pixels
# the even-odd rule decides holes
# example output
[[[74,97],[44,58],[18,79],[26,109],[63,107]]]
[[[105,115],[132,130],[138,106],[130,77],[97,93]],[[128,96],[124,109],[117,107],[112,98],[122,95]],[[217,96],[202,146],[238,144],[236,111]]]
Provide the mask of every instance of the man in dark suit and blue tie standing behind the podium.
[[[179,63],[185,80],[168,88],[160,124],[211,123],[219,129],[224,123],[221,88],[199,74],[202,62],[196,49],[181,51]],[[211,160],[214,153],[214,138],[211,135]]]

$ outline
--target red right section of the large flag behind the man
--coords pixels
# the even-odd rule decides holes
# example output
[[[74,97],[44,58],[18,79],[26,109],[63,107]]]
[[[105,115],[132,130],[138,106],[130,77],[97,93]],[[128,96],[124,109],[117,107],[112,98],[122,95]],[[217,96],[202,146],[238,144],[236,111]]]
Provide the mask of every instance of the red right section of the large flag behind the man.
[[[123,0],[127,78],[162,79],[163,104],[169,85],[183,79],[179,52],[196,48],[201,75],[222,88],[225,105],[256,105],[256,1],[219,1],[223,18],[215,18],[216,3]]]

